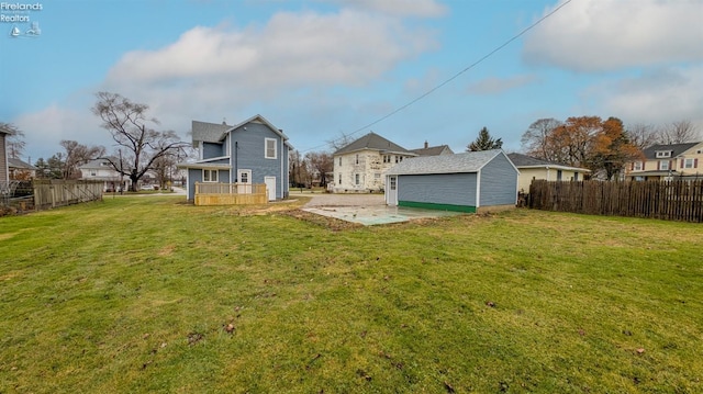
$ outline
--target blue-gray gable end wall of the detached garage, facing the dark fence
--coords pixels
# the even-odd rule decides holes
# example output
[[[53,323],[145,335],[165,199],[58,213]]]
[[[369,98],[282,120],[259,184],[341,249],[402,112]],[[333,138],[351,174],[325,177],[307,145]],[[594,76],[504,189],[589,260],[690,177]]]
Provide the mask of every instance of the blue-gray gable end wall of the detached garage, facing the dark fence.
[[[505,155],[498,155],[481,169],[479,206],[517,202],[517,171]]]

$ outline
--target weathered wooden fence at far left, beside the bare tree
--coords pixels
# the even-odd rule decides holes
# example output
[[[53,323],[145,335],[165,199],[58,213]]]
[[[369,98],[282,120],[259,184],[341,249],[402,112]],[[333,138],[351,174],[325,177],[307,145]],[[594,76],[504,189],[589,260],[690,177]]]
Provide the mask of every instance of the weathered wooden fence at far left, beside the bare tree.
[[[102,200],[101,181],[35,179],[32,184],[35,210]]]

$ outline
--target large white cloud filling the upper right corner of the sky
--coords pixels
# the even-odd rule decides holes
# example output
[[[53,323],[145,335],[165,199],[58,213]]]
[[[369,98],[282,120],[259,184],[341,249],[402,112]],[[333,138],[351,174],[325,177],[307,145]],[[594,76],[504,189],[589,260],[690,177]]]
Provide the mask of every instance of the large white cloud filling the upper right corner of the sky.
[[[525,36],[523,57],[587,72],[701,61],[701,15],[700,0],[572,1]]]

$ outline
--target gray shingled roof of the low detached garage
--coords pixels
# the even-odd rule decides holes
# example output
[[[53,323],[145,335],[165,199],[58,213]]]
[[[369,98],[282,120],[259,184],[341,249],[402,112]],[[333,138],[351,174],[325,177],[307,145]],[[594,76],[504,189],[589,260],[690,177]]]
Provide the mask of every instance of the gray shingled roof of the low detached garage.
[[[483,166],[486,166],[499,155],[505,155],[505,153],[503,153],[503,150],[501,149],[491,149],[480,151],[466,151],[454,155],[412,157],[391,167],[388,171],[386,171],[386,175],[402,176],[478,172],[479,170],[481,170],[481,168],[483,168]],[[515,172],[517,172],[516,168]]]

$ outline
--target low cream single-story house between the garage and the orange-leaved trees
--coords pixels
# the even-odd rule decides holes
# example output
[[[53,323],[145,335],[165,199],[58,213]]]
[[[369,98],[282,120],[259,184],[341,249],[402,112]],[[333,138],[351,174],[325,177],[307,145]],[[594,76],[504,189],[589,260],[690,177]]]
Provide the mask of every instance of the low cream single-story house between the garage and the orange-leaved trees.
[[[529,184],[535,179],[577,182],[591,172],[587,168],[565,166],[521,154],[509,154],[507,157],[520,170],[517,190],[522,193],[529,193]]]

